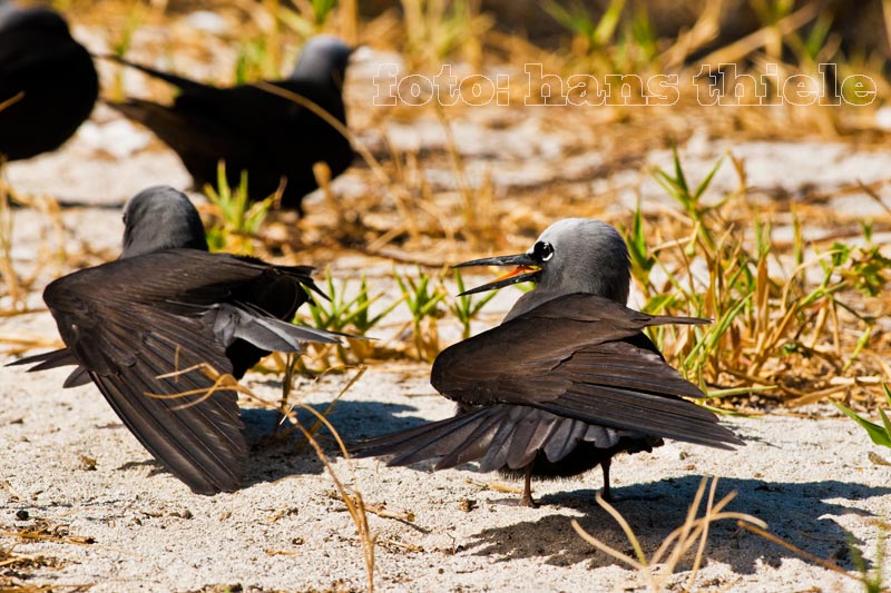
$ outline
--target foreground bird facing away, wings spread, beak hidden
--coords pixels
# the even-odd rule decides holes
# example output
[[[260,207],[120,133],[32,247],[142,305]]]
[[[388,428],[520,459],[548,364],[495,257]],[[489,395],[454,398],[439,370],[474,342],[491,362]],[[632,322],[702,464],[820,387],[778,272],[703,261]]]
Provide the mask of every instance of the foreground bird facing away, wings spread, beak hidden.
[[[120,259],[43,291],[67,347],[13,364],[77,365],[65,387],[92,380],[143,446],[193,491],[237,490],[247,445],[237,394],[216,374],[241,378],[271,350],[339,342],[290,323],[307,290],[319,290],[312,268],[207,253],[198,213],[169,187],[133,197],[124,224]]]

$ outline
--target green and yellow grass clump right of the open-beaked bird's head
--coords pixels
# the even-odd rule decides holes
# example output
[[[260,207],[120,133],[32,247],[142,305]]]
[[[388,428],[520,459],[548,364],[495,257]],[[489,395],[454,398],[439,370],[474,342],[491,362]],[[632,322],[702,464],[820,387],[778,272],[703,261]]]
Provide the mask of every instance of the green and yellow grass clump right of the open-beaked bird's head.
[[[709,326],[656,328],[657,344],[713,397],[761,394],[804,404],[844,391],[844,384],[829,383],[830,373],[881,376],[880,366],[862,362],[874,337],[866,303],[880,296],[891,260],[871,245],[869,227],[860,238],[865,246],[835,240],[820,249],[805,241],[793,210],[791,249],[780,246],[772,225],[747,202],[743,164],[732,161],[738,189],[706,200],[724,160],[694,184],[675,149],[672,170],[654,175],[682,207],[681,238],[647,247],[652,230],[639,206],[626,229],[644,308],[713,319]],[[750,233],[732,221],[741,206],[751,213]]]

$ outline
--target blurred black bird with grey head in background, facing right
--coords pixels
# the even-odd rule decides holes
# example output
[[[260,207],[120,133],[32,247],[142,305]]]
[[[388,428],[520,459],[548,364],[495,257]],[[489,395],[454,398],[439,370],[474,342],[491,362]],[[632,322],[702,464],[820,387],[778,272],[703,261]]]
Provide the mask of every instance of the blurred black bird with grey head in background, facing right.
[[[343,81],[352,49],[335,37],[319,36],[303,48],[294,71],[268,85],[312,101],[346,125]],[[353,160],[350,141],[305,105],[253,85],[217,88],[118,59],[179,89],[173,105],[143,99],[110,103],[128,118],[150,128],[183,160],[197,189],[217,185],[217,164],[237,187],[247,171],[254,201],[286,185],[282,207],[302,211],[303,197],[317,186],[313,165],[327,164],[331,176]]]

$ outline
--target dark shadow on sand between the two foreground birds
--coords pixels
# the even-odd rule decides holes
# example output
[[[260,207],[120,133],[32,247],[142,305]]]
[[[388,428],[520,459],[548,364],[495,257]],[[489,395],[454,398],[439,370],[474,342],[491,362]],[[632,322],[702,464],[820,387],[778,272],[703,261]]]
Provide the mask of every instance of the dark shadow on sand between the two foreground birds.
[[[324,413],[327,406],[327,404],[313,404],[311,407]],[[415,416],[394,416],[413,409],[411,406],[399,404],[341,401],[329,414],[327,419],[349,446],[355,439],[427,422]],[[307,428],[316,422],[315,416],[307,411],[297,411],[297,418]],[[292,475],[321,474],[324,471],[324,464],[300,432],[288,423],[276,428],[280,419],[281,416],[273,409],[242,408],[245,437],[251,447],[245,486],[275,482]],[[336,441],[326,428],[322,427],[316,433],[316,439],[329,457],[341,456]]]

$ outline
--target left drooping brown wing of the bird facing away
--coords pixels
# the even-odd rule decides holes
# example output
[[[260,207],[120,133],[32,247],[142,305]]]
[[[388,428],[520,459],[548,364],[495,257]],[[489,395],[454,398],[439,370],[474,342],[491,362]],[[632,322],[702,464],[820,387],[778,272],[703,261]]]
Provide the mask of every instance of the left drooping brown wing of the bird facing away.
[[[237,395],[213,392],[208,374],[231,373],[231,363],[213,327],[158,303],[176,279],[151,264],[137,257],[76,273],[45,299],[70,355],[139,442],[195,492],[233,491],[247,454]]]

